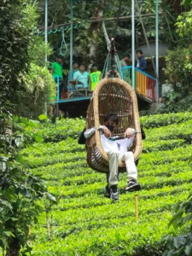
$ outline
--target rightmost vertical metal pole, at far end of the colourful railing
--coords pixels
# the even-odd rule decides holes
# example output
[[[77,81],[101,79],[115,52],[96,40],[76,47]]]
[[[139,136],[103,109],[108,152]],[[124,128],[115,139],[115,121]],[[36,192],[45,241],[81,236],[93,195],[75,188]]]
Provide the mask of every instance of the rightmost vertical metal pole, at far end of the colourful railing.
[[[155,44],[156,44],[156,102],[159,102],[159,15],[158,0],[155,0]]]

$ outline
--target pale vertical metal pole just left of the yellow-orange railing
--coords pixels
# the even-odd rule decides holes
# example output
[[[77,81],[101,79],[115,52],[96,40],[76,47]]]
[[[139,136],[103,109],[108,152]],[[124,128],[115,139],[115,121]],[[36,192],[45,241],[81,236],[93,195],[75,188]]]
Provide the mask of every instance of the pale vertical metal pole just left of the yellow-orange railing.
[[[135,82],[135,1],[131,0],[131,30],[132,30],[132,88],[136,90]]]

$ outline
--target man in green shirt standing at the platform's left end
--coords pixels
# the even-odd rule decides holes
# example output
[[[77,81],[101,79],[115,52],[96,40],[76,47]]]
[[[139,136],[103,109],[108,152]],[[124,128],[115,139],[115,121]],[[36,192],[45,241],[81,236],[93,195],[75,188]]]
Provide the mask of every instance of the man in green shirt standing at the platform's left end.
[[[57,55],[56,56],[56,61],[53,62],[52,65],[51,65],[51,73],[52,73],[56,83],[57,83],[57,77],[59,77],[60,99],[61,99],[62,90],[64,89],[65,92],[67,92],[67,84],[63,80],[63,73],[62,73],[62,65],[61,64],[62,64],[62,56]]]

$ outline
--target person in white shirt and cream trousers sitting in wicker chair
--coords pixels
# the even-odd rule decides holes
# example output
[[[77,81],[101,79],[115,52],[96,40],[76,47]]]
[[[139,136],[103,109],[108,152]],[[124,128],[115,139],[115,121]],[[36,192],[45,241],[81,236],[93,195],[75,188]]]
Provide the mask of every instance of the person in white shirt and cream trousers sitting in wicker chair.
[[[141,189],[139,183],[137,183],[137,167],[134,162],[133,153],[127,151],[131,148],[136,131],[132,128],[127,128],[125,131],[125,138],[120,140],[113,140],[113,129],[119,123],[119,118],[116,113],[108,113],[104,117],[104,125],[100,125],[102,148],[108,154],[109,160],[109,177],[108,177],[108,189],[110,198],[112,200],[119,199],[118,190],[118,162],[119,160],[125,160],[126,172],[127,172],[127,187],[128,192],[138,191]],[[84,137],[88,139],[96,131],[96,128],[90,128],[84,131]]]

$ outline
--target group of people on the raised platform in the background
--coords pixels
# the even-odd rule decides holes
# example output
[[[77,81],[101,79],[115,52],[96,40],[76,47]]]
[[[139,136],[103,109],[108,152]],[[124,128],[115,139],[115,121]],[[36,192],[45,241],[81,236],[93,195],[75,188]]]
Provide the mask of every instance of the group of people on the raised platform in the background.
[[[120,61],[120,67],[130,66],[131,56],[125,54]],[[142,49],[137,49],[137,68],[145,72],[147,67],[147,61],[143,57]],[[62,70],[62,56],[57,55],[56,61],[51,65],[51,73],[53,74],[55,81],[59,78],[60,82],[60,98],[61,92],[64,90],[67,93],[69,86],[72,90],[87,89],[93,91],[96,88],[96,84],[102,79],[102,72],[98,70],[96,63],[90,65],[90,72],[86,71],[86,67],[83,63],[79,65],[78,62],[73,62],[73,70],[69,71],[67,78],[64,78]],[[124,79],[131,83],[130,74],[125,73]],[[70,81],[76,80],[77,84],[72,85]]]

